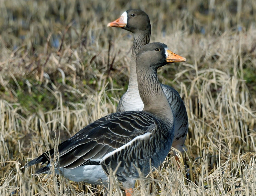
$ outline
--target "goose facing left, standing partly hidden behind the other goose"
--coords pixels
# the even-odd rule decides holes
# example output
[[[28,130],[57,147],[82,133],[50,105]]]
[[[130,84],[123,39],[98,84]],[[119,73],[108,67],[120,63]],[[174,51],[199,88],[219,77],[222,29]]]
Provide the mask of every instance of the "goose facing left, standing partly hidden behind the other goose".
[[[129,85],[127,91],[121,97],[116,111],[140,111],[143,109],[144,104],[138,89],[135,60],[138,50],[150,41],[151,24],[149,17],[142,10],[131,9],[125,11],[120,18],[108,23],[108,27],[121,27],[122,29],[132,32],[134,37]],[[161,86],[173,109],[175,117],[175,131],[172,146],[182,152],[188,132],[186,107],[179,93],[174,88],[164,84],[161,84]],[[177,156],[175,158],[179,160]]]

